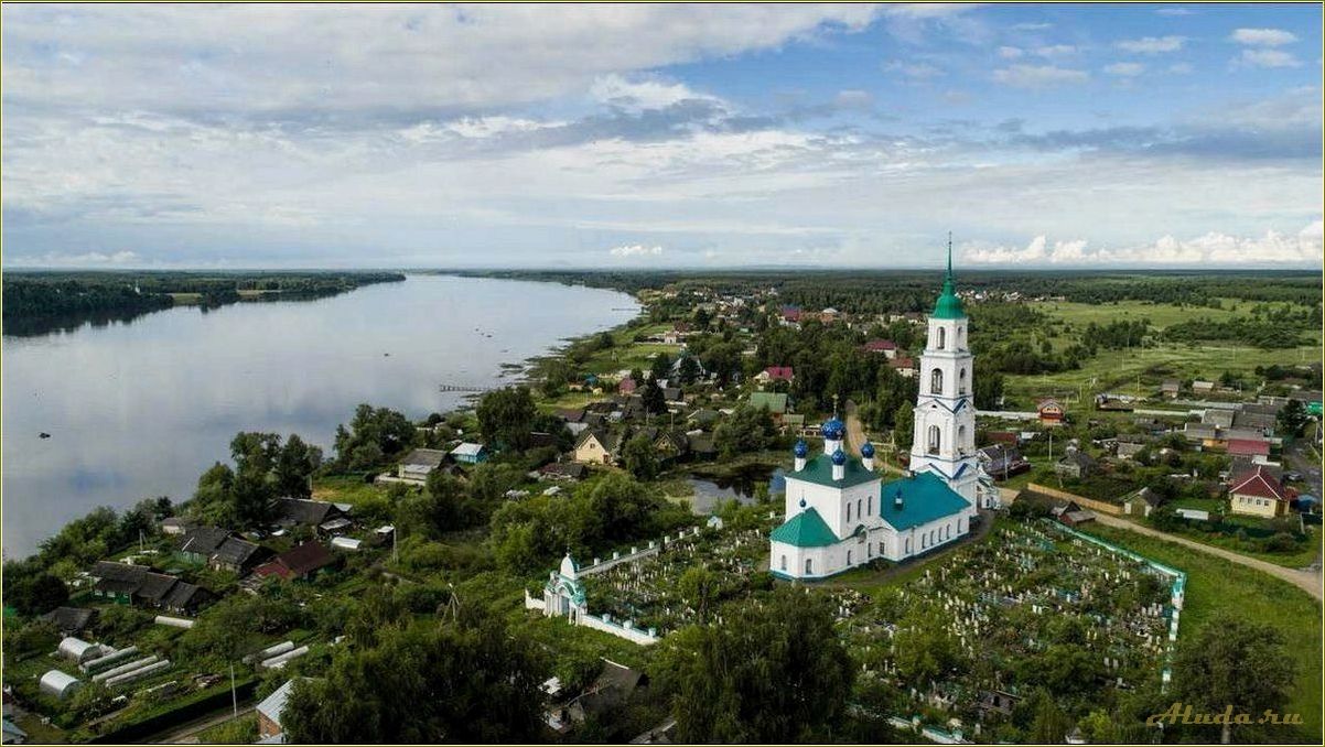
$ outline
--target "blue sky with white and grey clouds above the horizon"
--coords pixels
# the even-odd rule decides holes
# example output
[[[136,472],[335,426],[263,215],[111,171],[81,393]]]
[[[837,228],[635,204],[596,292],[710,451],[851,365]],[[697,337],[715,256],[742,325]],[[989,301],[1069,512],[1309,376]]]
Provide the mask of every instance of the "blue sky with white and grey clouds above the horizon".
[[[1320,268],[1321,5],[3,5],[4,266]]]

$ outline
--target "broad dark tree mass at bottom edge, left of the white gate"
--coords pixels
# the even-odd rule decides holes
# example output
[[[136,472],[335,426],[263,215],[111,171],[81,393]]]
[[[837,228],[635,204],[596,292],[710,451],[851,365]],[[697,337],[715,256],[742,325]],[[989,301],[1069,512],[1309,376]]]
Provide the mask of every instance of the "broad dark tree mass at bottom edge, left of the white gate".
[[[299,679],[282,714],[294,743],[502,743],[542,734],[539,649],[500,616],[386,628],[341,648],[326,677]]]

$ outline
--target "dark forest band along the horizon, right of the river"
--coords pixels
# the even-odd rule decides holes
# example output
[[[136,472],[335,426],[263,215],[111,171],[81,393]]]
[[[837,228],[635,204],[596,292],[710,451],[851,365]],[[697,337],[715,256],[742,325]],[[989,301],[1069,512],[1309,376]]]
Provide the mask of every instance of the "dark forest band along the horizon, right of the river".
[[[553,281],[627,293],[673,286],[745,294],[776,289],[783,303],[851,314],[928,311],[941,270],[484,270],[470,277]],[[1308,270],[958,272],[961,290],[1019,291],[1081,303],[1146,301],[1212,306],[1219,298],[1321,303],[1321,273]]]

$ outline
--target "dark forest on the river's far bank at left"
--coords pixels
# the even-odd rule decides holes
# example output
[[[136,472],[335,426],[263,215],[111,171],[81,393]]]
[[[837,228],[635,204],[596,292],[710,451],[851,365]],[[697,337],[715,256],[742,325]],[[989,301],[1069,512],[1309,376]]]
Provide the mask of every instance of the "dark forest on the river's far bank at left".
[[[7,272],[4,332],[45,334],[86,322],[103,324],[170,309],[171,294],[197,295],[197,305],[216,307],[250,294],[261,299],[309,299],[363,285],[403,281],[383,272]]]

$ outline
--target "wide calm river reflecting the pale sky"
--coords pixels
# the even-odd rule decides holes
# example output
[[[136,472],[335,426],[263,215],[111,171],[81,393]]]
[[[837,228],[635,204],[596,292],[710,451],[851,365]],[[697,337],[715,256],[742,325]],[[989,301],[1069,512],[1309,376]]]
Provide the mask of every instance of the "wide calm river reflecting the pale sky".
[[[94,506],[189,497],[240,430],[299,433],[330,454],[358,403],[416,419],[454,408],[465,395],[439,384],[501,383],[504,363],[636,309],[608,290],[411,275],[321,301],[5,336],[5,555],[33,552]]]

